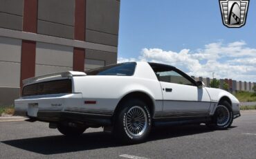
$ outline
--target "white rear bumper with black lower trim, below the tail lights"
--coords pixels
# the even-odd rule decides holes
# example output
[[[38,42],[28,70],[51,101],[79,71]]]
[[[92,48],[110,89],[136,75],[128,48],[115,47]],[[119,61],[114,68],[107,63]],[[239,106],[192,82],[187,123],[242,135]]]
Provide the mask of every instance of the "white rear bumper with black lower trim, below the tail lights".
[[[15,115],[25,116],[42,122],[64,120],[99,124],[111,124],[111,115],[66,111],[66,108],[82,106],[82,94],[37,95],[15,100]]]

